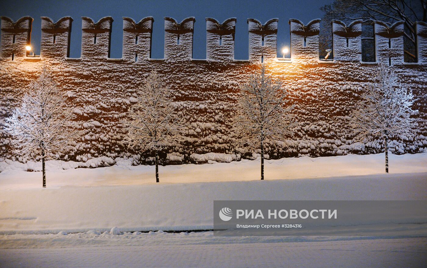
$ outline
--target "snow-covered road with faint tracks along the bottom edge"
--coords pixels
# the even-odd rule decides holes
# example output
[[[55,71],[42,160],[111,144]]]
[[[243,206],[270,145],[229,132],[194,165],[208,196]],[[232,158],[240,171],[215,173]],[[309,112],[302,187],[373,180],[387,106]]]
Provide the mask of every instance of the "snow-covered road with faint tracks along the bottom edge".
[[[421,268],[426,243],[426,238],[217,237],[212,232],[13,235],[0,238],[0,267]]]

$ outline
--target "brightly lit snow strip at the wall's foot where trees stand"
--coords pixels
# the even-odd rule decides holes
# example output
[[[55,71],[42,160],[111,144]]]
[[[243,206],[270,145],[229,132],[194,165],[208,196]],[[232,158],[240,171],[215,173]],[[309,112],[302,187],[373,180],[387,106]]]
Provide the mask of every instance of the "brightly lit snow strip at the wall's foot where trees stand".
[[[218,154],[219,155],[219,154]],[[225,155],[222,158],[226,159]],[[161,183],[177,182],[229,182],[260,179],[260,158],[231,163],[181,164],[159,167]],[[102,163],[116,163],[111,167],[74,168]],[[113,186],[155,183],[154,166],[130,165],[132,160],[102,157],[87,163],[47,161],[47,188],[68,186]],[[427,172],[427,153],[390,155],[390,174]],[[373,155],[346,155],[329,157],[282,158],[265,161],[265,179],[326,178],[384,174],[384,153]],[[40,189],[40,163],[22,164],[0,161],[0,190]]]

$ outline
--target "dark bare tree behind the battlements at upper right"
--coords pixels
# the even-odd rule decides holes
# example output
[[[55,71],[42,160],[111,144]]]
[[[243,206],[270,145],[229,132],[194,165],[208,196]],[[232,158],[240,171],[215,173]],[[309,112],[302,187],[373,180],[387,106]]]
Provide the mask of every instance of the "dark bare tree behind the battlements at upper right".
[[[322,30],[319,49],[321,55],[325,49],[332,48],[332,20],[349,23],[362,19],[362,57],[363,61],[375,61],[374,36],[372,22],[381,20],[392,24],[404,21],[404,58],[415,62],[415,28],[416,21],[427,22],[427,0],[334,0],[321,8]]]

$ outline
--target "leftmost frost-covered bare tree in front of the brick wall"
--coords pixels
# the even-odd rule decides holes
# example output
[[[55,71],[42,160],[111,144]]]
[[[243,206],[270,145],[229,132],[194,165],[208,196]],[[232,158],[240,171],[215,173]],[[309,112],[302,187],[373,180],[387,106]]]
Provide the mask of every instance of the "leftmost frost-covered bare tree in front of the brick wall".
[[[76,115],[64,104],[64,91],[44,69],[29,85],[20,107],[6,118],[5,130],[12,137],[13,152],[24,158],[41,158],[43,188],[46,187],[44,162],[70,152],[81,136],[72,121]]]

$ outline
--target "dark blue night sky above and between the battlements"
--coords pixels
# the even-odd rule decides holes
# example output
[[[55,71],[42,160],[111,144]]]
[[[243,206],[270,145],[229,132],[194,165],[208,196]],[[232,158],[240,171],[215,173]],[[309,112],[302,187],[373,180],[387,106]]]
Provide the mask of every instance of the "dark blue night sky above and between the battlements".
[[[193,58],[206,58],[206,17],[213,17],[222,23],[229,17],[237,17],[235,58],[248,59],[247,18],[255,18],[265,23],[271,18],[279,18],[278,49],[289,46],[290,34],[288,20],[296,18],[303,23],[322,17],[321,6],[332,0],[305,1],[37,1],[37,0],[1,0],[0,16],[18,20],[23,16],[34,18],[31,43],[35,52],[40,52],[41,16],[54,21],[64,16],[73,17],[70,57],[80,57],[82,37],[82,16],[98,21],[101,17],[114,19],[111,40],[111,58],[122,57],[123,20],[131,17],[139,21],[143,17],[154,17],[152,58],[163,58],[164,53],[164,17],[173,17],[181,22],[186,17],[196,17],[194,26]],[[279,53],[281,56],[281,54]]]

